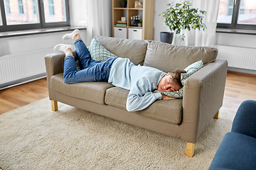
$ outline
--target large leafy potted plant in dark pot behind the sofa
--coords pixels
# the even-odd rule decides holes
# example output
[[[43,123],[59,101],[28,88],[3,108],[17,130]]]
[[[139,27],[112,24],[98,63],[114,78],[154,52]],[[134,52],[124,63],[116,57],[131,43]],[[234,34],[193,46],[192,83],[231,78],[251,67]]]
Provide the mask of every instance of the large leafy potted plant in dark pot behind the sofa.
[[[203,23],[203,17],[206,16],[206,11],[198,10],[198,8],[191,8],[191,3],[189,1],[184,1],[182,4],[167,4],[169,6],[166,11],[160,13],[164,20],[164,25],[168,26],[171,32],[161,32],[160,38],[161,42],[168,42],[171,44],[174,33],[180,34],[181,30],[191,30],[206,29],[206,24]],[[169,37],[171,40],[168,40]],[[180,36],[181,40],[184,40],[185,36],[182,34]]]

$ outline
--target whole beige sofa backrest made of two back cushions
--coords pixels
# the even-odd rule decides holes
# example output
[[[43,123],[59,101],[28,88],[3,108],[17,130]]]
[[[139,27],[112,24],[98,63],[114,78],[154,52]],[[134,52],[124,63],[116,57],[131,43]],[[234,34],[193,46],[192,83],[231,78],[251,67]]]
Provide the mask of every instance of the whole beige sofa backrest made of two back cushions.
[[[154,40],[129,40],[102,36],[95,38],[118,57],[129,58],[136,65],[143,64],[163,72],[185,69],[199,60],[203,60],[203,64],[208,64],[214,62],[218,55],[218,50],[214,47],[188,47]]]

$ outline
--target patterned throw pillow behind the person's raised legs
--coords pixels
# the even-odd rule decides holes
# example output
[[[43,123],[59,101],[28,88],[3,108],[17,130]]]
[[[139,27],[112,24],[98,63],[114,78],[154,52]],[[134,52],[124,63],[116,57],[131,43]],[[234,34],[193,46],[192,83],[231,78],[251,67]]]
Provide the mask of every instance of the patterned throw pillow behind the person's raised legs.
[[[117,57],[112,52],[107,50],[105,47],[100,45],[100,42],[96,40],[96,38],[92,38],[92,42],[90,43],[89,52],[92,57],[92,60],[100,61],[107,60],[111,57]]]

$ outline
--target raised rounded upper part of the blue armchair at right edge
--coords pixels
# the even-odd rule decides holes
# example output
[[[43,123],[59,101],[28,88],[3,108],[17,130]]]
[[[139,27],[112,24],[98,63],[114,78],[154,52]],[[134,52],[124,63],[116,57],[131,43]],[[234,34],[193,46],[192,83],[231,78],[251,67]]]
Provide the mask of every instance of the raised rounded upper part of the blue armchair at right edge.
[[[244,101],[238,108],[231,132],[256,138],[256,101]]]

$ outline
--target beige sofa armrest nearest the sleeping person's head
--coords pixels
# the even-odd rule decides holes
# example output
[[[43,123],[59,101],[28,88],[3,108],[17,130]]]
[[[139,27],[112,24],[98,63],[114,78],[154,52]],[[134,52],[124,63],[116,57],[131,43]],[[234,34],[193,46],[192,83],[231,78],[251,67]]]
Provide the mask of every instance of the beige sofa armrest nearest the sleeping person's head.
[[[183,92],[183,131],[195,143],[223,104],[228,62],[215,60],[186,79]]]

